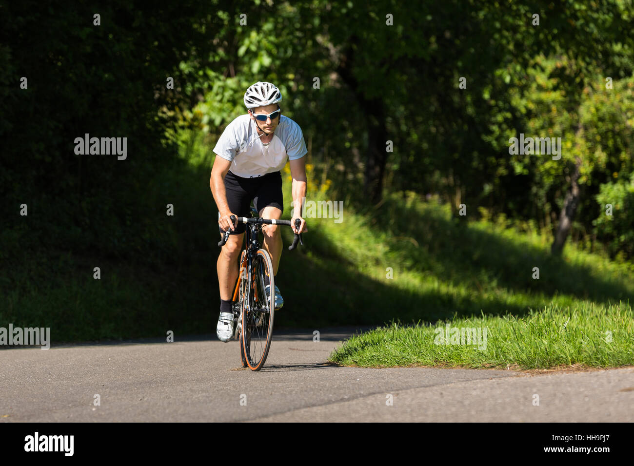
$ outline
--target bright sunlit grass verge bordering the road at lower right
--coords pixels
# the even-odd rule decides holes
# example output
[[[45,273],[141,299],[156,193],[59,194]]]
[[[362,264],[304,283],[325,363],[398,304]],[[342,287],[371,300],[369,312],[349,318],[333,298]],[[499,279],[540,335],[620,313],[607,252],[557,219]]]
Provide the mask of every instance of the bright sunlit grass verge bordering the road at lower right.
[[[354,336],[330,359],[363,367],[616,367],[634,364],[633,331],[634,313],[626,304],[550,305],[524,318],[480,316],[409,327],[393,323]]]

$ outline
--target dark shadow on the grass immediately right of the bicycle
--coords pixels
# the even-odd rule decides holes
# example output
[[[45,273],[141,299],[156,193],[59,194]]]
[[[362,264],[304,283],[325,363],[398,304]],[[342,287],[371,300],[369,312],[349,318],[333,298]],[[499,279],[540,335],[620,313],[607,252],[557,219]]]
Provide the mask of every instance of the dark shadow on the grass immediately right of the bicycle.
[[[306,235],[305,242],[327,242],[319,230]],[[316,253],[318,254],[318,253]],[[339,262],[335,257],[318,263],[300,253],[296,257],[283,254],[278,277],[285,304],[275,314],[275,325],[299,327],[313,325],[382,325],[391,320],[436,321],[458,316],[480,314],[524,314],[527,307],[509,306],[502,297],[475,297],[401,290],[394,280],[380,282]],[[321,331],[321,330],[320,330]]]

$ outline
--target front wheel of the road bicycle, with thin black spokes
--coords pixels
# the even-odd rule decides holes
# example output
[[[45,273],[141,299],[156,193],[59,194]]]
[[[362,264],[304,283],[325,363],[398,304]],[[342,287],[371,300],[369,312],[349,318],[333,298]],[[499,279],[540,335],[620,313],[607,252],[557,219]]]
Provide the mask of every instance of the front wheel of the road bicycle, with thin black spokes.
[[[266,293],[264,276],[269,276]],[[248,306],[242,313],[242,347],[250,370],[260,370],[271,347],[273,316],[275,313],[275,283],[273,263],[269,253],[258,249],[253,258]]]

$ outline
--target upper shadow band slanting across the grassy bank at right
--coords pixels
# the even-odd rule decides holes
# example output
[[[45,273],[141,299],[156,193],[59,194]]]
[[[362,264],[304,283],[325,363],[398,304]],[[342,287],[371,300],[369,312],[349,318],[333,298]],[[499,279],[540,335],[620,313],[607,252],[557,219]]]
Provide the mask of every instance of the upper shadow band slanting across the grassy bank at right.
[[[418,271],[424,272],[427,265],[434,275],[455,285],[467,283],[477,289],[495,283],[507,290],[548,296],[566,294],[606,304],[634,297],[634,287],[624,280],[599,276],[600,272],[588,266],[570,264],[528,242],[515,243],[479,230],[469,225],[466,217],[446,219],[430,210],[424,210],[421,216],[393,199],[386,200],[376,217],[377,225],[391,224],[398,229],[394,233],[411,236],[420,245],[415,248],[394,242],[392,249],[411,254],[414,263],[421,264]],[[395,219],[402,221],[396,223]],[[540,269],[539,280],[532,278],[534,267]]]

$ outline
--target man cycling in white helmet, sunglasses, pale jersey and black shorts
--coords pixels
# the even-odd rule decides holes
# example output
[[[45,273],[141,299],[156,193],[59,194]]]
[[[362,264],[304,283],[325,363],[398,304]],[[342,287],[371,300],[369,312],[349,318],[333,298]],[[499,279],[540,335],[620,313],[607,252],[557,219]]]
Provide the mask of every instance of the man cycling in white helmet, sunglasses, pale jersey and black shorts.
[[[250,204],[260,217],[280,219],[284,210],[281,192],[280,170],[290,164],[293,179],[292,195],[294,217],[301,224],[295,233],[307,231],[301,217],[302,198],[306,197],[306,143],[297,123],[281,115],[280,89],[270,82],[258,81],[244,94],[247,113],[240,115],[224,129],[214,153],[216,160],[211,171],[209,185],[218,207],[218,225],[221,231],[231,230],[217,262],[220,287],[220,316],[216,335],[223,342],[233,336],[232,302],[233,287],[238,279],[238,259],[242,251],[245,224],[236,224],[231,216],[250,217]],[[295,227],[292,227],[295,228]],[[282,249],[279,225],[265,225],[264,249],[273,262],[273,276],[278,273]],[[265,276],[269,292],[268,276]],[[275,285],[275,309],[284,300],[280,288]]]

